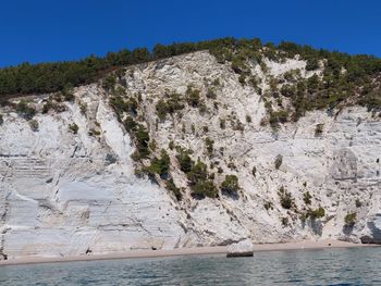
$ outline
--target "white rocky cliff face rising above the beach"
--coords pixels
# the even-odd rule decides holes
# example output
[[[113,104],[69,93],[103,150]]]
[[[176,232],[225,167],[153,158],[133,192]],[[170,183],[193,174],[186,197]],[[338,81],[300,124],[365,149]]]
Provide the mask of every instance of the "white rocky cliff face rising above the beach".
[[[272,76],[293,69],[310,76],[306,63],[297,59],[267,64]],[[262,79],[267,76],[258,66],[253,72]],[[216,99],[208,99],[208,88],[217,79]],[[168,149],[173,181],[184,188],[183,200],[176,201],[161,184],[135,176],[134,147],[101,85],[76,88],[76,101],[65,102],[64,112],[36,115],[38,130],[3,108],[1,254],[13,259],[230,245],[244,239],[360,241],[368,236],[380,241],[381,122],[366,109],[346,108],[334,116],[309,112],[274,132],[261,125],[266,109],[256,90],[242,85],[230,66],[217,63],[208,52],[128,67],[121,83],[126,96],[142,97],[138,117],[155,138],[157,150]],[[189,85],[200,90],[205,110],[186,107],[181,115],[159,121],[158,100],[168,92],[184,94]],[[33,100],[38,105],[47,97]],[[84,103],[86,114],[81,108]],[[69,128],[73,123],[77,134]],[[317,124],[323,124],[318,136]],[[212,156],[205,144],[207,137],[213,141]],[[168,148],[171,141],[192,149],[194,160],[201,158],[214,173],[217,185],[226,174],[236,175],[237,196],[193,199],[176,153]],[[276,169],[279,156],[282,164]],[[281,187],[291,194],[298,212],[282,207]],[[311,195],[308,206],[304,200],[307,191]],[[324,209],[323,217],[299,219],[304,210],[319,207]],[[344,217],[349,212],[357,215],[347,229]]]

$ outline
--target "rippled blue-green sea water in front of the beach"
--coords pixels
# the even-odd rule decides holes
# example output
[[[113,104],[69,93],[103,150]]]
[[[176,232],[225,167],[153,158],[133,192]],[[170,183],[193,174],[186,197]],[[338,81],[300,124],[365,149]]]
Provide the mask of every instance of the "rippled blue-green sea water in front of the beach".
[[[381,248],[3,266],[0,285],[381,285]]]

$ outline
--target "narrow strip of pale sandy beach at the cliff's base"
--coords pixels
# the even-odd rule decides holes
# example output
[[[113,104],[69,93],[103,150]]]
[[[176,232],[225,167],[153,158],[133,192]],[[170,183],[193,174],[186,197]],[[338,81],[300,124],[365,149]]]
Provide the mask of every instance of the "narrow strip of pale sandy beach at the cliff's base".
[[[310,249],[329,249],[329,248],[359,248],[359,247],[378,247],[378,245],[354,244],[340,240],[303,240],[284,244],[257,244],[254,245],[254,252],[261,251],[284,251],[284,250],[310,250]],[[0,266],[39,264],[39,263],[59,263],[59,262],[77,262],[77,261],[100,261],[100,260],[119,260],[119,259],[139,259],[139,258],[160,258],[177,256],[205,256],[205,254],[224,254],[228,253],[228,246],[216,247],[194,247],[177,248],[171,250],[131,250],[124,252],[111,252],[107,254],[79,254],[67,257],[23,257],[11,260],[1,260]],[[255,256],[255,254],[254,254]]]

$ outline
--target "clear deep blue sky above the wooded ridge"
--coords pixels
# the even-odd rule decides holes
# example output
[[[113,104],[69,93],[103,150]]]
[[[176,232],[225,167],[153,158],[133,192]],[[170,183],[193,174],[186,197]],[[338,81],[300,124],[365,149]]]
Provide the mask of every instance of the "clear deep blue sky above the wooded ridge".
[[[2,0],[0,66],[225,36],[381,57],[378,0]]]

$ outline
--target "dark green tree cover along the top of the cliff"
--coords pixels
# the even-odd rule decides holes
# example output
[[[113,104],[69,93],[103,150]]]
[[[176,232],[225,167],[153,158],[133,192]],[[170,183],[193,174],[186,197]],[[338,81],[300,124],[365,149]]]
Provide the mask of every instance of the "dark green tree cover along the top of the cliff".
[[[317,50],[309,46],[286,41],[278,46],[271,42],[263,46],[257,38],[221,38],[194,43],[157,45],[152,52],[145,48],[133,51],[124,49],[119,52],[109,52],[103,58],[90,55],[81,61],[34,65],[23,63],[0,70],[0,99],[4,101],[20,95],[62,90],[65,100],[73,100],[70,91],[72,87],[95,83],[122,66],[199,50],[209,50],[220,63],[231,63],[232,70],[239,75],[243,84],[248,82],[256,87],[259,83],[253,79],[248,62],[260,64],[266,73],[263,55],[272,61],[283,62],[286,58],[299,54],[307,61],[307,71],[321,69],[323,71],[321,77],[312,76],[309,79],[300,79],[296,72],[284,74],[283,77],[287,83],[281,87],[280,92],[292,100],[292,119],[295,121],[306,111],[332,109],[339,104],[358,103],[367,107],[369,111],[380,110],[381,107],[380,77],[378,76],[381,72],[380,59],[365,54],[349,55],[336,51]],[[115,75],[106,76],[102,82],[102,86],[109,91],[114,90],[115,83],[119,80]],[[216,79],[213,85],[220,84]],[[214,95],[208,92],[207,97],[214,98]],[[189,95],[188,102],[192,107],[198,105],[199,95],[197,92]]]

